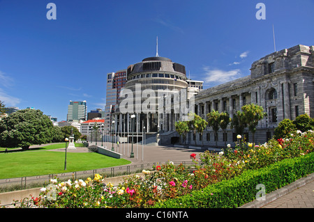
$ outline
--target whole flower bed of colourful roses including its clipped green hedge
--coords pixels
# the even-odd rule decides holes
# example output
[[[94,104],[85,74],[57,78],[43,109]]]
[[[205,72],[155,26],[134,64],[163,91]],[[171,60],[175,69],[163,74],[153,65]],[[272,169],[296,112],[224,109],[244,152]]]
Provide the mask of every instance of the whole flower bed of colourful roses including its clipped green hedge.
[[[304,164],[295,165],[295,167],[292,164],[292,168],[278,165],[281,170],[277,170],[276,164],[281,164],[284,159],[289,160],[283,161],[283,163],[290,163],[291,159],[295,157],[307,160],[310,158],[312,165],[309,164],[309,166],[312,168],[307,168],[308,170],[304,173],[313,172],[313,154],[309,154],[313,150],[314,134],[312,131],[297,132],[290,138],[271,139],[263,145],[242,142],[237,144],[235,150],[228,146],[225,153],[204,152],[200,154],[199,158],[195,154],[191,154],[190,158],[195,162],[194,169],[187,168],[182,164],[174,166],[170,162],[162,166],[155,166],[153,173],[143,171],[144,177],[138,175],[125,177],[124,183],[117,187],[110,183],[103,184],[103,178],[98,174],[93,180],[88,178],[85,181],[60,182],[58,179],[54,179],[41,190],[39,198],[33,199],[33,203],[38,207],[62,208],[179,207],[180,203],[182,207],[234,207],[252,200],[252,195],[254,196],[256,193],[254,186],[257,182],[257,184],[273,184],[267,186],[278,188],[291,181],[290,179],[286,180],[285,176],[290,175],[288,172],[290,169],[293,172],[303,172],[301,169],[306,168]],[[271,165],[274,163],[276,163],[274,166]],[[287,177],[295,179],[300,175],[306,175],[304,173]],[[261,180],[258,179],[260,177]],[[271,189],[267,188],[267,191]],[[234,190],[237,190],[236,193],[239,196],[238,199],[232,200],[229,197],[234,196]],[[206,193],[206,198],[202,196],[202,193]],[[214,193],[216,196],[219,194],[220,198],[225,198],[218,200]],[[245,196],[245,193],[250,193],[249,197],[242,198],[242,200],[241,196]],[[208,198],[208,195],[211,198]],[[196,204],[194,198],[196,198],[196,202],[202,198],[204,201]],[[215,204],[217,201],[223,204]],[[230,204],[227,204],[228,201]]]

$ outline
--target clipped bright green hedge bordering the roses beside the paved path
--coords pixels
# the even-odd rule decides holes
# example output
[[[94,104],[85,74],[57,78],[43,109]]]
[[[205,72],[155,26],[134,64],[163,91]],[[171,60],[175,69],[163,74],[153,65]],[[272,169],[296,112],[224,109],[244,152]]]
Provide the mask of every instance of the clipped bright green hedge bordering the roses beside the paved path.
[[[217,184],[193,191],[175,199],[156,203],[155,208],[232,208],[255,200],[257,184],[264,184],[266,193],[314,172],[314,153],[284,159],[257,170],[248,170]]]

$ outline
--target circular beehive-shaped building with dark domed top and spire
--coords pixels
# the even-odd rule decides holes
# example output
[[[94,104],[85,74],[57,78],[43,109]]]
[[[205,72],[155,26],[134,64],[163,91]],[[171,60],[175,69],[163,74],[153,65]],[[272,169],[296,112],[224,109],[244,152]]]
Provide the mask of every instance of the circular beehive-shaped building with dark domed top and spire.
[[[129,65],[124,89],[133,92],[133,112],[117,109],[118,131],[156,133],[162,129],[163,115],[158,114],[160,97],[187,88],[186,68],[170,58],[155,56]],[[163,101],[163,100],[161,100]],[[134,115],[134,116],[133,116]],[[133,116],[133,118],[130,118]],[[134,122],[134,123],[132,123]],[[125,129],[124,129],[125,128]]]

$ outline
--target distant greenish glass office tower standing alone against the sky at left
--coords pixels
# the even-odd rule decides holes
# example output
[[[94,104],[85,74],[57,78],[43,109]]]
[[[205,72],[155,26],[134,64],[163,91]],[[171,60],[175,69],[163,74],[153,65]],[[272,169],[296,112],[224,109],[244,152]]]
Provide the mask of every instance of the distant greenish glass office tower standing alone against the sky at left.
[[[87,120],[87,105],[86,100],[84,101],[71,101],[68,105],[68,116],[67,121],[80,121]]]

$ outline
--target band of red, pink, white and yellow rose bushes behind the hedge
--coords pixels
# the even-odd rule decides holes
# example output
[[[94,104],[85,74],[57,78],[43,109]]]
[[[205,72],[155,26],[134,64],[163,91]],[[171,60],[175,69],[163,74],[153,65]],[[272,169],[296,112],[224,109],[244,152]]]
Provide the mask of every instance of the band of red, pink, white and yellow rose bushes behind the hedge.
[[[276,161],[299,157],[314,150],[314,133],[297,132],[287,138],[271,139],[262,145],[236,144],[233,150],[227,145],[226,152],[206,151],[196,158],[192,168],[172,162],[155,166],[153,171],[142,171],[143,176],[126,176],[124,182],[114,187],[103,183],[99,174],[94,179],[50,180],[38,198],[37,207],[151,207],[169,198],[177,198],[210,184],[229,180],[248,169],[268,166]]]

